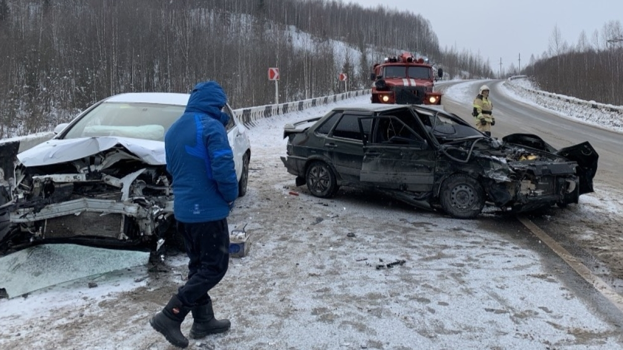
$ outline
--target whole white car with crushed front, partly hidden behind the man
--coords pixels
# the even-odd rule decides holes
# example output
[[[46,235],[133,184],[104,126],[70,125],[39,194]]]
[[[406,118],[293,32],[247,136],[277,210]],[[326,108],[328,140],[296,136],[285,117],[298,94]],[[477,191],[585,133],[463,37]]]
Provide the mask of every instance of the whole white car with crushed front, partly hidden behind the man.
[[[41,242],[105,247],[150,246],[175,236],[173,191],[164,134],[189,94],[125,93],[94,104],[57,135],[17,155],[11,201],[14,226],[0,251]],[[229,106],[229,144],[239,195],[247,191],[247,131]]]

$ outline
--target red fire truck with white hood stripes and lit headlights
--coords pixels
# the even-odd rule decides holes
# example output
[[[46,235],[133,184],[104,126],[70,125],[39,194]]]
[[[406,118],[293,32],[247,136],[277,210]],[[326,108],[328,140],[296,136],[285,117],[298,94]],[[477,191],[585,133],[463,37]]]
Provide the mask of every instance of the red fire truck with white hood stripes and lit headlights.
[[[372,67],[372,103],[440,106],[442,94],[435,92],[434,81],[443,74],[439,68],[435,76],[434,69],[424,58],[415,58],[409,52],[399,57],[386,57],[383,63]]]

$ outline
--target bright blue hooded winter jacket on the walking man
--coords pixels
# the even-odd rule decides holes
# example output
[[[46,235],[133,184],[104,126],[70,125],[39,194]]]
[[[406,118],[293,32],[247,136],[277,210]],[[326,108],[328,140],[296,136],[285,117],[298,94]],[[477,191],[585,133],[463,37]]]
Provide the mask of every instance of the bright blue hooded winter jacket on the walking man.
[[[216,81],[197,84],[186,110],[164,136],[166,170],[173,177],[173,210],[183,223],[227,218],[238,197],[234,154],[221,112],[227,96]]]

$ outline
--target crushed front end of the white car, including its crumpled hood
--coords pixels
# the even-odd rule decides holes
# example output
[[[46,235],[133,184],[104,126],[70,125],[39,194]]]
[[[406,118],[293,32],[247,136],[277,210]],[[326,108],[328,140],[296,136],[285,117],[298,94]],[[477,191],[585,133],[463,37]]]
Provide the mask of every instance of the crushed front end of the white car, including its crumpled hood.
[[[12,201],[4,206],[14,224],[2,239],[9,249],[42,241],[156,245],[171,234],[173,192],[163,142],[52,139],[17,158]]]

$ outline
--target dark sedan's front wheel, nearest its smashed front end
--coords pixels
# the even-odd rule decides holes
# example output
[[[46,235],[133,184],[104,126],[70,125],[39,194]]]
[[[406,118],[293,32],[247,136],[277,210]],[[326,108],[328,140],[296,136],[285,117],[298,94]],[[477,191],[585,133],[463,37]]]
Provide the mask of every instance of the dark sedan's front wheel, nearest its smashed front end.
[[[467,175],[452,175],[442,185],[441,206],[454,218],[473,219],[485,206],[482,186]]]

